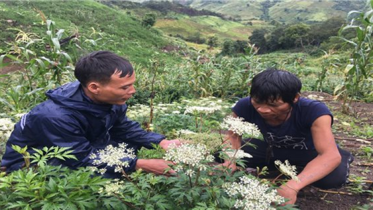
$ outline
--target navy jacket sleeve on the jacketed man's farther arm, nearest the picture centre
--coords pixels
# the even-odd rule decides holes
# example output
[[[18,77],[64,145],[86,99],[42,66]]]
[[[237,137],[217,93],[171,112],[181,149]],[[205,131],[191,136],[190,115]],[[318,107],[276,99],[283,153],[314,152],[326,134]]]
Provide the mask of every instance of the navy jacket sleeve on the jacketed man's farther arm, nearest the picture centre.
[[[159,144],[166,138],[164,135],[142,129],[138,122],[128,119],[126,111],[127,106],[120,111],[116,122],[110,129],[111,139],[120,142],[126,141],[151,149],[153,148],[152,143]]]

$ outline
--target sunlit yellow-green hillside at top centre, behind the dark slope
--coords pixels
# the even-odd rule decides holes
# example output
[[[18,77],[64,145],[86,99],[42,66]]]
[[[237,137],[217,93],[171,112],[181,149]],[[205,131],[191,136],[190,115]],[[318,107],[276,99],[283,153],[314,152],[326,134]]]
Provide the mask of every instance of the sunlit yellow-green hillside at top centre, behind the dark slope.
[[[261,20],[243,24],[225,18],[218,12],[209,10],[197,10],[187,5],[171,1],[100,1],[116,9],[124,10],[143,18],[146,13],[154,13],[157,16],[155,28],[160,29],[164,34],[183,38],[187,41],[197,42],[196,36],[206,39],[216,35],[220,41],[226,38],[233,40],[247,40],[252,31],[258,28],[267,27],[269,23]],[[194,41],[193,41],[194,40]]]

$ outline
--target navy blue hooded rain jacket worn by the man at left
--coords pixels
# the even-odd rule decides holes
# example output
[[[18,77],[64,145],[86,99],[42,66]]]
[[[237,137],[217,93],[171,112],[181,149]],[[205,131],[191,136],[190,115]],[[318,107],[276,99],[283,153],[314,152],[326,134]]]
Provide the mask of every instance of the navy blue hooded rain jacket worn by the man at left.
[[[11,148],[12,144],[20,147],[27,145],[30,154],[35,152],[32,147],[71,147],[78,160],[56,159],[51,163],[78,168],[93,166],[90,154],[109,144],[125,142],[135,149],[141,146],[151,148],[151,143],[158,144],[165,138],[146,132],[139,123],[129,120],[127,105],[94,104],[84,94],[79,82],[49,90],[46,95],[49,100],[37,105],[15,124],[1,161],[1,166],[5,166],[7,171],[18,170],[24,163],[22,156]],[[135,169],[137,159],[123,161],[130,161],[126,172]],[[102,167],[105,165],[98,168]],[[114,167],[106,169],[108,174],[114,172]]]

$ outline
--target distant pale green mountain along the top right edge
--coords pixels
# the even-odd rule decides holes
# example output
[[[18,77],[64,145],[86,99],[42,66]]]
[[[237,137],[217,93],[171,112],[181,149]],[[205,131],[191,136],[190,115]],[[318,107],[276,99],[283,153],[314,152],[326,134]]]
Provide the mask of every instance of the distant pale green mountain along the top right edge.
[[[147,0],[132,0],[144,2]],[[161,1],[161,0],[156,0]],[[164,0],[163,0],[164,1]],[[169,0],[171,1],[171,0]],[[347,16],[364,9],[367,0],[174,0],[196,9],[222,13],[243,22],[251,20],[281,23],[321,22],[332,16]]]

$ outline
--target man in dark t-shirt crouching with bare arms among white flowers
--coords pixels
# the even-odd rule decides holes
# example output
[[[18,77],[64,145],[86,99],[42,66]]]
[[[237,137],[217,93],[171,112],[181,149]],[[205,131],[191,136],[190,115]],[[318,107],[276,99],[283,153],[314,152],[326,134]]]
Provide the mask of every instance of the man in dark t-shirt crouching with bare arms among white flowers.
[[[274,167],[274,161],[288,160],[303,170],[299,181],[289,180],[278,193],[294,204],[297,193],[307,185],[330,189],[342,187],[353,161],[351,153],[339,148],[334,140],[331,125],[333,115],[318,101],[300,97],[300,80],[286,71],[267,69],[253,78],[250,97],[241,99],[233,108],[234,117],[255,123],[263,134],[259,139],[241,139],[228,132],[232,148],[251,154],[247,167]],[[229,166],[230,163],[226,162]],[[231,165],[231,167],[234,167]]]

